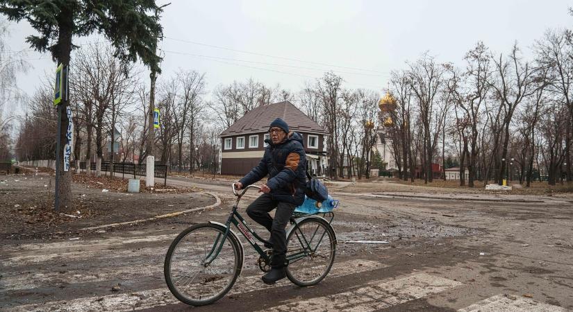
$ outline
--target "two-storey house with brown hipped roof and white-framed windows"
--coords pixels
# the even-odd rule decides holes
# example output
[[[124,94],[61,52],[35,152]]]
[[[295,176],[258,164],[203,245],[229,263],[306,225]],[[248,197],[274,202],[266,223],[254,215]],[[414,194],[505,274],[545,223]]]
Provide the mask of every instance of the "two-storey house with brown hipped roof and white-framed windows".
[[[285,101],[256,107],[224,130],[221,138],[221,174],[244,175],[256,166],[265,153],[270,123],[280,117],[290,131],[299,132],[304,139],[304,151],[311,175],[326,173],[327,132],[292,103]]]

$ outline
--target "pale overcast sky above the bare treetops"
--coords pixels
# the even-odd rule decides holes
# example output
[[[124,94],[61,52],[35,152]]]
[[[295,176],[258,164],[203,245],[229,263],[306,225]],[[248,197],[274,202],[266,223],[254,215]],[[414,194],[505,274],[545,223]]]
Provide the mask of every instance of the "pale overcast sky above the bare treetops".
[[[206,73],[209,90],[252,77],[298,91],[329,70],[347,87],[381,90],[389,71],[424,51],[463,65],[463,55],[479,40],[496,53],[510,51],[517,40],[529,54],[546,28],[573,26],[567,13],[572,4],[562,0],[171,2],[162,19],[162,77],[180,67],[194,69]],[[29,49],[24,37],[33,29],[20,23],[11,31],[10,49]],[[33,51],[27,58],[33,68],[18,81],[31,95],[56,65]]]

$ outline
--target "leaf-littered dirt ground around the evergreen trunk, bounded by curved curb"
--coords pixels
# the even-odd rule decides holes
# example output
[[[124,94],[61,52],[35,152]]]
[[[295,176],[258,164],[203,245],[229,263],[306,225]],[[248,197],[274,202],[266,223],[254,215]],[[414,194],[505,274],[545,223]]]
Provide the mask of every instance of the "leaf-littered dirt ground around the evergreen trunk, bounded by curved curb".
[[[155,188],[140,184],[140,193],[127,193],[128,180],[119,177],[74,175],[67,214],[53,210],[53,171],[24,171],[0,175],[0,238],[40,239],[80,234],[78,229],[121,223],[174,211],[212,205],[213,196],[197,187]],[[166,191],[163,191],[166,190]]]

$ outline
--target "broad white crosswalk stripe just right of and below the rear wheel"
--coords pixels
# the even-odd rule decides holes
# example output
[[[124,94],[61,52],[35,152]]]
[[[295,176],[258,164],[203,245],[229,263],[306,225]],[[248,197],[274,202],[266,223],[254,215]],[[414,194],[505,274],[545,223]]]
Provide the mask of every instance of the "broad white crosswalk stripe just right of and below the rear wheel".
[[[260,311],[375,311],[461,285],[426,273],[367,284],[353,291],[294,301]]]

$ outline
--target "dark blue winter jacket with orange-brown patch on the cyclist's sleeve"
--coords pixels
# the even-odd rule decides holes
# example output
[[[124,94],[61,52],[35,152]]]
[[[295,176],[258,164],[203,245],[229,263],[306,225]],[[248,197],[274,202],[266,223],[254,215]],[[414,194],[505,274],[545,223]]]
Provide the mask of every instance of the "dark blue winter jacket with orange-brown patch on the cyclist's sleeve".
[[[239,182],[247,187],[269,175],[267,187],[271,189],[270,196],[281,202],[302,205],[306,187],[306,155],[302,135],[289,132],[279,144],[272,144],[270,139],[265,142],[269,145],[265,148],[263,159]]]

